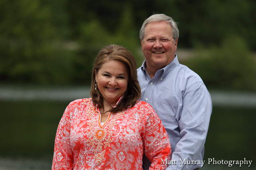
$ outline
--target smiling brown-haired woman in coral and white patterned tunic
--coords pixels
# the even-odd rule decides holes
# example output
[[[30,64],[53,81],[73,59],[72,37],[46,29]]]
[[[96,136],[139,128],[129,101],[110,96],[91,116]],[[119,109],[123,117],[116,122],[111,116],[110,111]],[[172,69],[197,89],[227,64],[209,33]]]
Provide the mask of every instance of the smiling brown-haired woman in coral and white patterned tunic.
[[[92,70],[92,98],[71,102],[60,120],[53,170],[165,169],[170,142],[153,108],[139,102],[141,91],[132,53],[118,45],[104,47]]]

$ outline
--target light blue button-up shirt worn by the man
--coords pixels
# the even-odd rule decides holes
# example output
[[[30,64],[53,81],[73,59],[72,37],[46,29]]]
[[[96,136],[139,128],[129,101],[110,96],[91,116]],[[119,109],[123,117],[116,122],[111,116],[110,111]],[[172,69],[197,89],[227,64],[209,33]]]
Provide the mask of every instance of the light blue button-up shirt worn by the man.
[[[141,100],[154,108],[168,133],[172,161],[166,170],[200,168],[212,113],[212,100],[204,82],[198,74],[180,64],[177,56],[152,79],[145,64],[144,61],[137,70]],[[145,158],[144,170],[150,166]]]

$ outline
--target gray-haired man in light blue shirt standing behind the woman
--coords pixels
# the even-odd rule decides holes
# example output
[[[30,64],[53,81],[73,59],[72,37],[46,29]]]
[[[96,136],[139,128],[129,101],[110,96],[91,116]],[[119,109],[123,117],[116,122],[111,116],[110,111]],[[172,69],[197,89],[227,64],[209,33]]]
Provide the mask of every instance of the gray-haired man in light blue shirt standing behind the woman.
[[[175,55],[179,31],[175,21],[154,14],[140,29],[145,61],[138,68],[141,100],[160,117],[172,147],[172,161],[166,170],[194,170],[202,167],[204,143],[212,113],[212,100],[204,82]],[[143,168],[150,161],[144,156]]]

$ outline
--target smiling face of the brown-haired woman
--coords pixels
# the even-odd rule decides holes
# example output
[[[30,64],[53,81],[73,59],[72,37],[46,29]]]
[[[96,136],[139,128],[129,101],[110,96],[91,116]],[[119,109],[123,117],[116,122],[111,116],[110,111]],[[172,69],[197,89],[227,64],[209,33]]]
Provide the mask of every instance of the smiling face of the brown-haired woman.
[[[98,72],[96,82],[104,103],[115,106],[119,98],[126,92],[128,86],[128,72],[126,66],[116,60],[106,61]]]

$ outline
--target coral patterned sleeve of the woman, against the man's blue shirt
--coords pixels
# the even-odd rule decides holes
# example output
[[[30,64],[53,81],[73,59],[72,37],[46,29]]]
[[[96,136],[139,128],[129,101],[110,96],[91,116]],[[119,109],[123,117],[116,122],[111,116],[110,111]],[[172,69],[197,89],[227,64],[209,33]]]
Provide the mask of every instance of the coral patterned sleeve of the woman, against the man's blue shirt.
[[[151,161],[149,170],[164,170],[171,159],[171,146],[168,134],[158,115],[152,109],[145,125],[145,155]]]

